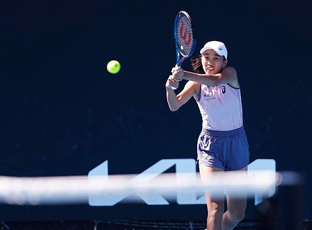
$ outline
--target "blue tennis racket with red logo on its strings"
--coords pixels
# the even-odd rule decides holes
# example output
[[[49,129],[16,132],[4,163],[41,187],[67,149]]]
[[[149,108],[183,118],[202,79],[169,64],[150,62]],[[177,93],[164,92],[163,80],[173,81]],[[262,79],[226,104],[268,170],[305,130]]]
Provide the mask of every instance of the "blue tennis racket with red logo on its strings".
[[[176,49],[176,67],[190,57],[195,49],[195,32],[191,17],[185,11],[180,11],[174,21],[174,40]],[[175,90],[175,87],[171,87]]]

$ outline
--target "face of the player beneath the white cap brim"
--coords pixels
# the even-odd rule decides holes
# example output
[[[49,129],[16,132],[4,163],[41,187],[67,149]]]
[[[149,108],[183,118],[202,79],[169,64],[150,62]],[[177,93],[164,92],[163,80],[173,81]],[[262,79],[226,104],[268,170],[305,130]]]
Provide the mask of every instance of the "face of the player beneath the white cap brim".
[[[226,66],[227,60],[213,49],[207,49],[202,55],[203,70],[206,74],[218,74]]]

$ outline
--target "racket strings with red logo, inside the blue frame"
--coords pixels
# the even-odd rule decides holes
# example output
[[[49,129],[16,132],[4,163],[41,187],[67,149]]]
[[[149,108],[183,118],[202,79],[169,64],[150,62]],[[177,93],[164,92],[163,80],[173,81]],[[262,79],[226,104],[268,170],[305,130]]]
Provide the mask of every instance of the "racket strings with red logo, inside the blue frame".
[[[192,52],[193,30],[191,21],[186,15],[181,15],[177,24],[177,41],[180,53],[189,56]]]

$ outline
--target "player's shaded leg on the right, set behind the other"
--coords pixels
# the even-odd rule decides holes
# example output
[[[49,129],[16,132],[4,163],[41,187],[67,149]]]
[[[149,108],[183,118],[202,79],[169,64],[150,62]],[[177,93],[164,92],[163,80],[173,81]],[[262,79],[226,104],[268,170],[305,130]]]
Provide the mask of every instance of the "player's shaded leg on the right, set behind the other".
[[[247,177],[247,167],[240,170],[245,170]],[[247,192],[246,198],[242,199],[232,198],[227,194],[226,202],[228,210],[223,214],[222,230],[232,230],[241,220],[245,218],[245,210],[247,207]]]

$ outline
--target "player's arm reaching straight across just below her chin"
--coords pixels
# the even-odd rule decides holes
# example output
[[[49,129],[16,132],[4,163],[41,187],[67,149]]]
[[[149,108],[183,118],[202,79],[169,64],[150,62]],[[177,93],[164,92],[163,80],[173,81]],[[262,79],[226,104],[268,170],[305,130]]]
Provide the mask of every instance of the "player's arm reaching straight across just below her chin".
[[[173,70],[173,69],[172,69]],[[219,84],[230,84],[239,88],[237,73],[234,67],[225,67],[219,74],[197,74],[184,71],[182,68],[174,68],[173,77],[182,78],[189,81],[195,81],[203,85],[214,87]]]

